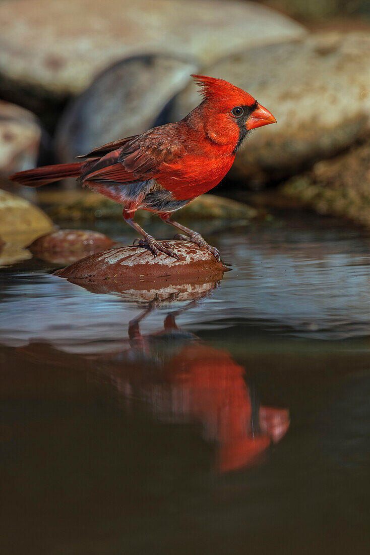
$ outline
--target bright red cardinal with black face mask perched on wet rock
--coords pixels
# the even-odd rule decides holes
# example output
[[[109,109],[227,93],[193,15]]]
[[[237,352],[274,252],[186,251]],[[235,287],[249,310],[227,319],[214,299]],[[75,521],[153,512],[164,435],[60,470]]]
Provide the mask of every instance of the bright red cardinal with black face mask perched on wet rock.
[[[149,129],[79,156],[84,162],[44,166],[12,175],[22,185],[38,187],[67,177],[122,204],[126,222],[143,236],[140,246],[179,259],[166,241],[156,241],[134,221],[138,208],[155,212],[190,240],[219,251],[199,233],[171,220],[170,214],[220,183],[251,129],[276,123],[250,94],[222,79],[192,75],[203,101],[180,122]]]

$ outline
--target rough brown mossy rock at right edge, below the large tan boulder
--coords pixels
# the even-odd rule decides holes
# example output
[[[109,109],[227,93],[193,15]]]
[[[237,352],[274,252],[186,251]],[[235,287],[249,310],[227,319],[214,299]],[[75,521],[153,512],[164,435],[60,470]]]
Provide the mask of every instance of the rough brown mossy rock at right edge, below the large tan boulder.
[[[281,192],[320,214],[341,216],[370,227],[370,140],[332,160],[318,162]]]

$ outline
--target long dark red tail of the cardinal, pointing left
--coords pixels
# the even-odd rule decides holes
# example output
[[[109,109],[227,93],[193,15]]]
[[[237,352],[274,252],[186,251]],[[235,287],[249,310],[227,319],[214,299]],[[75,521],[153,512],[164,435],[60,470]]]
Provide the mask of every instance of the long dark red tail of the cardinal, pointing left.
[[[18,171],[18,173],[9,176],[9,179],[28,187],[40,187],[67,177],[79,176],[82,165],[83,162],[73,162],[72,164],[42,166],[32,170]]]

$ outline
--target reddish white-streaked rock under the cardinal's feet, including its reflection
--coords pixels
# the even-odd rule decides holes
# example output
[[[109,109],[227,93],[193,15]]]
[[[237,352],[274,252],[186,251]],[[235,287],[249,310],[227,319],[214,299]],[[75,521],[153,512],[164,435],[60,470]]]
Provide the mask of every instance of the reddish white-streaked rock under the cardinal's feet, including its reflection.
[[[58,270],[56,275],[94,292],[124,296],[137,292],[141,300],[151,300],[160,291],[163,299],[171,293],[189,295],[189,287],[190,291],[194,289],[195,297],[198,293],[201,296],[203,289],[212,289],[229,270],[205,248],[187,241],[169,243],[180,260],[164,253],[154,258],[148,249],[124,246],[88,256]]]

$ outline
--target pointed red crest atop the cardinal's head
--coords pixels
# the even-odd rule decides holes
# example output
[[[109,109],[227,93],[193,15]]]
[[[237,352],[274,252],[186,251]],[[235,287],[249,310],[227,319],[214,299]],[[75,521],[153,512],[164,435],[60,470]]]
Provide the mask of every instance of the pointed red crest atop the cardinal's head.
[[[191,75],[199,87],[202,97],[206,100],[231,100],[237,104],[252,105],[256,101],[245,90],[235,87],[224,79],[207,77],[206,75]]]

